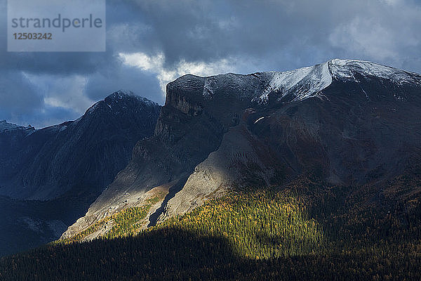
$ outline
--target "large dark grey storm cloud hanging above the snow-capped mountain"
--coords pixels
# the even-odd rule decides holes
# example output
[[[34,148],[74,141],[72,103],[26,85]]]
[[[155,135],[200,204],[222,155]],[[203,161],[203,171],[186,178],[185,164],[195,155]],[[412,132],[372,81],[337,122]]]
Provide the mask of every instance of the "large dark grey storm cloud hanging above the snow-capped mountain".
[[[290,69],[352,56],[400,67],[396,55],[409,51],[408,39],[420,46],[420,7],[404,1],[133,3],[154,29],[149,39],[170,64],[239,56],[257,58],[262,67]],[[411,51],[420,57],[420,48]]]

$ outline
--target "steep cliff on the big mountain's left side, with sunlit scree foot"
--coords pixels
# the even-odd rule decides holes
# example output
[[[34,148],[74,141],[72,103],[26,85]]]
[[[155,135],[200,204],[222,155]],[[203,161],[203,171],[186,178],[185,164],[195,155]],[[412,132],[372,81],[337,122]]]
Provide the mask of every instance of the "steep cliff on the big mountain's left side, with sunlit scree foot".
[[[243,81],[243,76],[229,74],[229,77],[236,87],[236,82]],[[203,77],[187,75],[168,84],[166,105],[159,115],[154,136],[135,145],[126,169],[63,237],[78,233],[104,216],[142,204],[142,195],[156,186],[173,183],[171,194],[182,188],[186,177],[219,147],[232,120],[238,118],[235,111],[225,111],[225,105],[218,104],[217,99],[203,97],[205,83]],[[232,95],[232,100],[237,99],[230,87],[224,91]]]

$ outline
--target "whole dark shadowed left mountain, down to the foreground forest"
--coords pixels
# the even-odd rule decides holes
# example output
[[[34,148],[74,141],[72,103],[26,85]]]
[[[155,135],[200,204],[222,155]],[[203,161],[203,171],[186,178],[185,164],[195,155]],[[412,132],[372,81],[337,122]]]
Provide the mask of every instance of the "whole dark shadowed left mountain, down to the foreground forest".
[[[151,136],[161,106],[118,91],[75,121],[0,122],[0,254],[57,239]],[[25,238],[26,237],[26,238]]]

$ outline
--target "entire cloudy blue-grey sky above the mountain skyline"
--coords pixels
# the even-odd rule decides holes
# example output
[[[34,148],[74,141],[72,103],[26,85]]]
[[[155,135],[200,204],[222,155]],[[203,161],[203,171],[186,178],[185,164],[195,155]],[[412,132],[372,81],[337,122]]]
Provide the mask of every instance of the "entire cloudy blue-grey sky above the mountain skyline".
[[[356,58],[421,72],[418,0],[107,0],[107,51],[8,53],[0,0],[0,119],[37,128],[109,93],[162,104],[192,73],[293,70]]]

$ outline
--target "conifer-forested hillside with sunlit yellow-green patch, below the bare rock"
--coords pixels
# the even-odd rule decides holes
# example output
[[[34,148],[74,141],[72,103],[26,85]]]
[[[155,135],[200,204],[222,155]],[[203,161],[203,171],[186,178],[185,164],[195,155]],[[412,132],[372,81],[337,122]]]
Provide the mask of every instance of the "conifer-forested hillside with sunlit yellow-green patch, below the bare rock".
[[[2,280],[419,280],[420,169],[383,185],[247,188],[116,235],[1,259]],[[138,235],[133,235],[138,233]],[[117,237],[121,236],[121,237]]]

